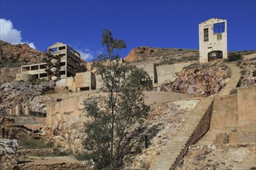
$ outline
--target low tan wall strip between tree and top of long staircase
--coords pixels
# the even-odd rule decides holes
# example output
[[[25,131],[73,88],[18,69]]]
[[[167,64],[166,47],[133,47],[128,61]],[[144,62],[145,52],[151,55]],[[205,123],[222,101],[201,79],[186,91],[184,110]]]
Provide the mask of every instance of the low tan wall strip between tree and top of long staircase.
[[[147,105],[193,98],[193,96],[189,94],[167,91],[148,91],[144,92],[144,95],[144,103]]]

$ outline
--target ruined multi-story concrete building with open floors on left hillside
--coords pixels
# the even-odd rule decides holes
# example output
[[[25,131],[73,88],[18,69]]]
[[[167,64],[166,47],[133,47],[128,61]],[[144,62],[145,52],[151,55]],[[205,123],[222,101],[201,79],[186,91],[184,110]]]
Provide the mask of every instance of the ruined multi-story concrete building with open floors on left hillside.
[[[64,80],[81,72],[80,53],[64,43],[57,42],[48,47],[46,63],[32,64],[21,67],[21,73],[29,73],[39,79]]]

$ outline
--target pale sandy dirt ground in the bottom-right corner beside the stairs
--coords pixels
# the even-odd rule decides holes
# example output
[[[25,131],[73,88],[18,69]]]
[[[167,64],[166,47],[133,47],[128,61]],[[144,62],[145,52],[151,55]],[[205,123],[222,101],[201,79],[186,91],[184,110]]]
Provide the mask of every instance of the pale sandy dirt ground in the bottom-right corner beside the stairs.
[[[192,145],[177,169],[256,169],[256,145]]]

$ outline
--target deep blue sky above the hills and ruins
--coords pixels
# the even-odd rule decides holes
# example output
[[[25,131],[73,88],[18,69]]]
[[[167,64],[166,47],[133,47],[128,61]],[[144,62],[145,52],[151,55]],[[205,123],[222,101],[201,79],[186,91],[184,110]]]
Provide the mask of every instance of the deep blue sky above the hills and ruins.
[[[102,51],[102,29],[125,40],[127,48],[120,54],[126,56],[137,46],[199,49],[199,22],[220,18],[227,19],[228,50],[246,50],[256,46],[255,11],[255,0],[0,0],[0,18],[6,25],[1,24],[0,31],[7,34],[0,39],[30,43],[42,51],[64,42],[90,60]]]

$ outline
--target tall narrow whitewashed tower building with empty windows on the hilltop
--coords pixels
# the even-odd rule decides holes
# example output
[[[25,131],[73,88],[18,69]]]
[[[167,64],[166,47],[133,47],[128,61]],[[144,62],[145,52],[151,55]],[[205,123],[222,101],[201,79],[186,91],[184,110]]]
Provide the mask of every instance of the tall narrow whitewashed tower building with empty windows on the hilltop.
[[[199,61],[227,59],[227,20],[208,19],[199,23]]]

